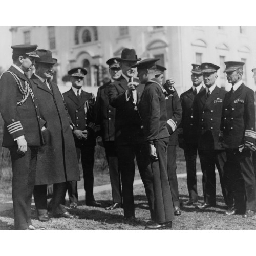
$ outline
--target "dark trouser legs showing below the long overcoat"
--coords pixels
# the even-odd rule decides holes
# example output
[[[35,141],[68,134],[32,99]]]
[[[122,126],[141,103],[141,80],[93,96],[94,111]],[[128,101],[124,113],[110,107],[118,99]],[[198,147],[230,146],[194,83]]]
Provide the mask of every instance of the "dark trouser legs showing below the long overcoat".
[[[53,184],[52,212],[53,215],[63,214],[65,209],[65,196],[68,182]],[[34,187],[34,201],[37,214],[41,215],[48,211],[47,185],[37,185]]]

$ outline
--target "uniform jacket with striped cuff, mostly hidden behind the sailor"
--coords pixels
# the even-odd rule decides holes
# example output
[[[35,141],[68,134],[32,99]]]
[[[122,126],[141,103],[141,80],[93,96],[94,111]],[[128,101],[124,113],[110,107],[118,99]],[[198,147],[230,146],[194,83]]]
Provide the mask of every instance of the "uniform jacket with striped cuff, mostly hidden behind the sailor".
[[[163,86],[164,87],[164,86]],[[181,123],[182,108],[180,98],[175,90],[172,94],[165,97],[166,111],[167,111],[167,129],[170,134],[169,146],[178,145],[178,133],[181,129],[177,129],[177,126]],[[173,127],[173,128],[172,128]]]

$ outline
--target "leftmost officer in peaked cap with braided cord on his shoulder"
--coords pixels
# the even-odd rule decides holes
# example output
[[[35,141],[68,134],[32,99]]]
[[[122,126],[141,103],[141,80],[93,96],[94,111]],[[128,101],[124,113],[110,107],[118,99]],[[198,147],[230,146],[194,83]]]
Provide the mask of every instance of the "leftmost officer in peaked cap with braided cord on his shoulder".
[[[43,144],[34,88],[25,72],[35,64],[37,45],[12,46],[13,65],[0,79],[0,112],[4,119],[3,147],[12,161],[12,200],[15,230],[35,230],[31,200],[35,184],[38,147]]]

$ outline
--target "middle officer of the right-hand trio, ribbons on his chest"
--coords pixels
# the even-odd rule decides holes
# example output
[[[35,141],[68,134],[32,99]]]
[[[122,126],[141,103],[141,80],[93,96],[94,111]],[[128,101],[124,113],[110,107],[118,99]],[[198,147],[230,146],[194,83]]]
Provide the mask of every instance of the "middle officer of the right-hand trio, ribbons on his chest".
[[[197,207],[205,209],[216,205],[216,179],[215,166],[218,169],[222,194],[226,205],[227,191],[224,184],[224,164],[226,162],[226,152],[218,144],[221,111],[226,91],[216,85],[218,78],[217,70],[219,66],[212,63],[203,63],[200,66],[205,89],[199,92],[194,100],[193,118],[198,130],[198,153],[201,161],[203,187],[205,190],[204,202]]]

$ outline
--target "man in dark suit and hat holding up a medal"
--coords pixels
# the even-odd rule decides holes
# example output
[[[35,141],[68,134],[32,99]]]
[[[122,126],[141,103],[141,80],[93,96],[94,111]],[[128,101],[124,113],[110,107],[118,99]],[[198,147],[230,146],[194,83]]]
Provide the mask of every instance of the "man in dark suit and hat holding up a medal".
[[[137,110],[144,84],[140,84],[133,77],[136,69],[132,67],[139,60],[134,49],[123,49],[119,59],[122,76],[108,87],[110,104],[116,108],[115,144],[121,172],[124,217],[125,222],[131,224],[136,223],[133,197],[135,156],[150,206],[151,218],[154,219],[152,170]]]

